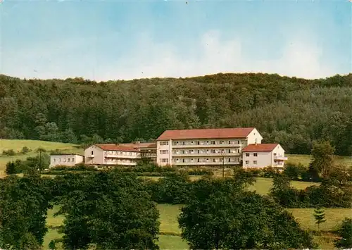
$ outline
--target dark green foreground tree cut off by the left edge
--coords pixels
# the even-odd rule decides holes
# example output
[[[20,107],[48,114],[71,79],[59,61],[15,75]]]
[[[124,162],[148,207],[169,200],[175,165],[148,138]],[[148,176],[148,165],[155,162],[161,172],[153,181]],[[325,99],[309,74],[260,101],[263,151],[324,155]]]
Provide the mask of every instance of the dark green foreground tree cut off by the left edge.
[[[46,235],[49,179],[9,176],[0,179],[0,248],[38,249]]]

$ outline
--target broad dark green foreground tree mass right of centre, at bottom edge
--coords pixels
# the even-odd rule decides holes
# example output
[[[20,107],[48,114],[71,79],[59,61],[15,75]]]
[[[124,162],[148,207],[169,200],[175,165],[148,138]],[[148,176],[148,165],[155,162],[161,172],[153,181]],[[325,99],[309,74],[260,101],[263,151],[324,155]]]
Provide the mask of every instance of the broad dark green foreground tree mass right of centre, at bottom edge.
[[[209,185],[207,182],[217,182]],[[199,182],[179,217],[191,249],[303,249],[313,239],[268,198],[244,192],[234,180]],[[204,188],[212,187],[203,192]]]

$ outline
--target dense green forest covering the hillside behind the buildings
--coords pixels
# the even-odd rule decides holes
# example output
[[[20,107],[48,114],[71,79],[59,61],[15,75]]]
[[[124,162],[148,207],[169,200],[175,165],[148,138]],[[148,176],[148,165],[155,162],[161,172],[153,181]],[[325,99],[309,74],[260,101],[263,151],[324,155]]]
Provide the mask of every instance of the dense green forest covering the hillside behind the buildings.
[[[352,74],[304,80],[217,74],[94,82],[0,75],[0,137],[58,142],[155,139],[166,129],[257,127],[264,142],[310,154],[329,139],[352,154]]]

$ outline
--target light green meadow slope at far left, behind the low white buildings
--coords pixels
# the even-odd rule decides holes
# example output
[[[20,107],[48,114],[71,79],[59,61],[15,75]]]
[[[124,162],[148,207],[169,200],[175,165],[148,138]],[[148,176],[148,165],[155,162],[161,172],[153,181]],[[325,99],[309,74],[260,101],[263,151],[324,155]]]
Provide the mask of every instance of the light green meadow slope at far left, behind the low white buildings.
[[[15,156],[1,156],[4,150],[13,149],[15,152],[19,152],[24,146],[27,146],[27,148],[32,151],[27,154],[18,154]],[[61,142],[44,142],[27,139],[0,139],[0,176],[5,174],[4,170],[8,161],[15,161],[17,159],[25,160],[27,157],[36,156],[37,153],[35,152],[35,149],[38,149],[39,147],[42,147],[47,151],[58,149],[63,151],[63,153],[83,154],[83,149],[77,149],[75,146],[77,145]]]

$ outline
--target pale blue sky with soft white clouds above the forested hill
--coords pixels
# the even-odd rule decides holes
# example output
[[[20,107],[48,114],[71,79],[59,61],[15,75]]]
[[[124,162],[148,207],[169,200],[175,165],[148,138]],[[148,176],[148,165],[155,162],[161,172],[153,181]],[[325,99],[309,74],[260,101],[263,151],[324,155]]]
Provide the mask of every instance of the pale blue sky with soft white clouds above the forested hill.
[[[13,77],[352,71],[348,0],[2,0],[0,11],[0,73]]]

